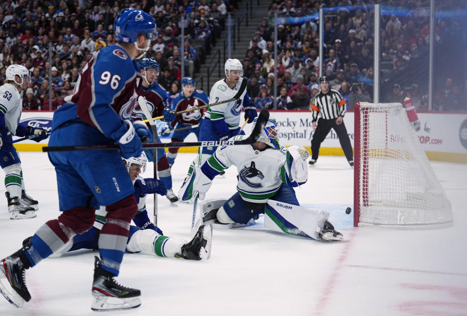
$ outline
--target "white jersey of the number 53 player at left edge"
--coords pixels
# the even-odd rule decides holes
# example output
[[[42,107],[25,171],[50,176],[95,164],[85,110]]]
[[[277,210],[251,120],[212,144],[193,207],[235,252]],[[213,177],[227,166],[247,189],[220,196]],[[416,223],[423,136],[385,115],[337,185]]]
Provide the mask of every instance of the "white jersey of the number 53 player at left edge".
[[[8,130],[15,135],[21,116],[22,100],[18,89],[10,84],[0,87],[0,111],[5,115]]]

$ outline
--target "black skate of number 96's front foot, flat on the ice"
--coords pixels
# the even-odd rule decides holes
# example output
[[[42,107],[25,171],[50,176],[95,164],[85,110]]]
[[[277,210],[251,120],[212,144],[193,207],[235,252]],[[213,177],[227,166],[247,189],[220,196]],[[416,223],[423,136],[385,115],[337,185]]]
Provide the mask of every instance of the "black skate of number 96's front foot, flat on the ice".
[[[114,275],[101,268],[97,257],[94,262],[93,311],[117,311],[136,308],[141,305],[140,290],[118,284]]]

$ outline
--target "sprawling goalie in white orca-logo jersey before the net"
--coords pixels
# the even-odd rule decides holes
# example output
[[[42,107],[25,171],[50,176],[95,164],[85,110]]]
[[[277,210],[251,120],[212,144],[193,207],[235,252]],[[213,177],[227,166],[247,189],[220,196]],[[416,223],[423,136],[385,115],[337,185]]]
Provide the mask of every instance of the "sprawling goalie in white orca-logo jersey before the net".
[[[232,139],[242,138],[239,135]],[[182,199],[192,199],[196,193],[204,199],[213,178],[235,165],[238,170],[237,193],[229,199],[202,203],[203,224],[212,223],[218,227],[248,225],[259,214],[265,214],[267,228],[323,241],[343,240],[343,235],[328,221],[328,212],[299,206],[293,187],[307,181],[308,156],[302,146],[281,147],[276,120],[269,118],[253,145],[217,148],[187,180],[182,188]]]

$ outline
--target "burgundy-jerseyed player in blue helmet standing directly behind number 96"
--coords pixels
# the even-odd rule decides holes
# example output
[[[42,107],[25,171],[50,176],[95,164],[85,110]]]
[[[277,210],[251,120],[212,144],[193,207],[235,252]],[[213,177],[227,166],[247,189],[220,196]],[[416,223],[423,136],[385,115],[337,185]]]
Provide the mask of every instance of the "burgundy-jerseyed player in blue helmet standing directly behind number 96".
[[[159,64],[151,58],[143,58],[139,62],[138,66],[143,80],[141,85],[137,89],[138,95],[143,96],[146,99],[146,103],[149,107],[149,113],[152,117],[163,115],[162,121],[170,123],[175,120],[174,111],[168,105],[168,99],[166,95],[166,89],[162,88],[157,82],[155,82],[156,76],[159,75]],[[138,102],[136,102],[133,109],[133,118],[135,120],[144,120],[144,113],[140,108]],[[156,142],[161,142],[159,136],[156,134]],[[150,161],[154,161],[152,157],[152,151],[145,151]],[[170,173],[170,166],[166,156],[164,148],[157,149],[157,172],[159,179],[164,182],[167,195],[166,197],[171,203],[178,201],[177,195],[172,191],[172,175]],[[175,205],[175,204],[174,204]]]

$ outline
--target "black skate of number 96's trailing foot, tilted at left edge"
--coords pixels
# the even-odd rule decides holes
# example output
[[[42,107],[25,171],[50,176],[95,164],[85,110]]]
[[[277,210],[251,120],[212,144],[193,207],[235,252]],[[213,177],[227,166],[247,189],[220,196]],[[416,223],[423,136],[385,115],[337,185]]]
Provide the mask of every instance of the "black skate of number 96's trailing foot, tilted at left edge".
[[[25,270],[30,267],[22,248],[0,261],[0,293],[15,307],[22,307],[31,299],[26,286]]]

